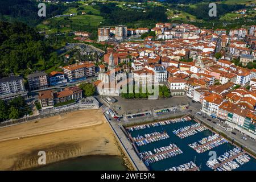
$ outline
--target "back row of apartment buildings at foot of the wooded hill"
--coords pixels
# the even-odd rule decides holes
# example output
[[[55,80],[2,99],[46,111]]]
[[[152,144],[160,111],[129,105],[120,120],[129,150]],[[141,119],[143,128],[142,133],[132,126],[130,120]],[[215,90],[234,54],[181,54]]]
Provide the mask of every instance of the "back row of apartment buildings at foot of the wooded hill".
[[[68,65],[63,68],[63,72],[52,71],[35,72],[27,75],[28,90],[42,90],[49,86],[67,85],[70,82],[85,80],[96,75],[94,63],[79,63]],[[24,80],[20,76],[9,76],[0,79],[0,99],[10,101],[15,97],[27,98],[27,89]]]

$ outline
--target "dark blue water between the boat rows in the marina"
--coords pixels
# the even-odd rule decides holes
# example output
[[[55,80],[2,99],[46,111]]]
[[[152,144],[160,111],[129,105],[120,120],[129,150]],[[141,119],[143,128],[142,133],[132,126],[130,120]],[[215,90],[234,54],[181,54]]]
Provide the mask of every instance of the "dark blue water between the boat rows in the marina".
[[[224,143],[221,144],[218,147],[212,148],[212,150],[205,151],[203,153],[198,154],[195,150],[193,150],[191,147],[188,146],[188,144],[193,142],[198,142],[198,140],[208,137],[209,135],[212,135],[212,131],[205,130],[203,132],[198,132],[195,135],[192,135],[190,137],[180,139],[177,137],[174,133],[172,133],[173,130],[180,129],[184,126],[189,126],[196,123],[195,121],[188,121],[188,122],[179,122],[179,123],[171,123],[170,125],[164,125],[164,126],[156,126],[156,127],[150,127],[142,130],[137,131],[128,131],[132,137],[137,137],[137,135],[144,135],[148,133],[152,133],[155,131],[166,131],[167,134],[170,136],[168,139],[160,140],[158,142],[152,142],[148,143],[144,146],[138,146],[139,152],[143,151],[154,151],[154,148],[159,148],[162,146],[168,146],[170,143],[175,143],[177,147],[179,147],[183,154],[179,154],[176,156],[173,156],[172,158],[160,160],[155,163],[150,163],[150,170],[165,170],[169,169],[171,167],[180,166],[181,164],[188,163],[190,161],[195,161],[196,165],[199,167],[201,165],[201,171],[210,171],[209,167],[206,166],[207,161],[209,160],[210,156],[209,151],[216,151],[217,157],[224,154],[226,151],[232,150],[235,146],[233,146],[230,143]],[[249,162],[243,164],[242,166],[238,167],[238,171],[244,171],[244,170],[253,170],[256,171],[256,160],[252,158]]]

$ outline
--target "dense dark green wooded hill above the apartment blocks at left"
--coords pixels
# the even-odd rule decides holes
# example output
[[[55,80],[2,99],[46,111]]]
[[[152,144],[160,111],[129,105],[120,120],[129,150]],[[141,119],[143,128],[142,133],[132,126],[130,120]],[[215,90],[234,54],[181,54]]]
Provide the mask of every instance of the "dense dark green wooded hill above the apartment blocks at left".
[[[57,54],[43,36],[23,23],[0,22],[0,77],[26,75],[56,64]]]

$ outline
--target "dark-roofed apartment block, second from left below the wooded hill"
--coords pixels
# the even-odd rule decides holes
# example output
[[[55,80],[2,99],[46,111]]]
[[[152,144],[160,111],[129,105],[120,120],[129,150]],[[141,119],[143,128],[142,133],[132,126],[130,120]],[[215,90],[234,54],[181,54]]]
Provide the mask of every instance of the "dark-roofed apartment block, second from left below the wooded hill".
[[[36,72],[27,76],[30,90],[48,88],[48,75],[44,72]]]

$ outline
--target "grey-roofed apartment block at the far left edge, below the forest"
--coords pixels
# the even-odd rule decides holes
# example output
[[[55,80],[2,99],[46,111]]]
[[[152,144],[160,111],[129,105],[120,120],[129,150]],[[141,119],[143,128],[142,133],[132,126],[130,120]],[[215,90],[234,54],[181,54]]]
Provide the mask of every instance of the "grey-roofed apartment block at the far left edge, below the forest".
[[[19,76],[10,76],[0,79],[0,99],[10,101],[15,97],[27,98],[23,79]]]

